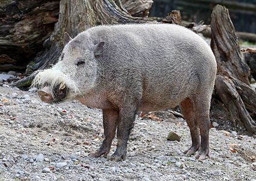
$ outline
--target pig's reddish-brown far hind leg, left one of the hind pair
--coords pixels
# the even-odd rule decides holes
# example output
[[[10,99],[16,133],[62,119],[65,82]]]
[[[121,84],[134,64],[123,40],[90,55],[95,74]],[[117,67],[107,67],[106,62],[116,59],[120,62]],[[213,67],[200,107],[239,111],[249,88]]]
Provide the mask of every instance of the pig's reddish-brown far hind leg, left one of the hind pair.
[[[188,150],[184,151],[184,154],[191,156],[196,153],[200,147],[200,133],[194,115],[194,105],[190,98],[185,98],[180,104],[182,113],[187,121],[188,127],[190,127],[190,134],[192,139],[192,145]]]

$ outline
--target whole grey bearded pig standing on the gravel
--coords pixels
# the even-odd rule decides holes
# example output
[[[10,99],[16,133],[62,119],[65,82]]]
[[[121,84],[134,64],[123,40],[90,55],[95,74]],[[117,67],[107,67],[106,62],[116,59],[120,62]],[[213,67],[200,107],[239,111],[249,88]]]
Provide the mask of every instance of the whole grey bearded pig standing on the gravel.
[[[208,132],[216,60],[210,46],[179,25],[131,24],[90,28],[71,39],[59,62],[39,72],[34,84],[46,102],[76,99],[103,110],[105,139],[91,153],[109,153],[117,129],[118,146],[110,157],[126,157],[137,110],[181,106],[199,159],[209,155]],[[201,137],[201,141],[200,138]]]

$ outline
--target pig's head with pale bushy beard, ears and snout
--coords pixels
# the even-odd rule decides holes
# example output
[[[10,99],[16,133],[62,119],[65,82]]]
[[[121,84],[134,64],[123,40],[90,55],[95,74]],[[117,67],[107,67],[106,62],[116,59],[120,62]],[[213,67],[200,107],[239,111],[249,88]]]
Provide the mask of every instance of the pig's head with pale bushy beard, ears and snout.
[[[59,62],[52,68],[39,71],[32,86],[39,88],[42,101],[57,103],[83,97],[97,80],[98,66],[95,61],[103,53],[104,42],[90,43],[85,34],[74,39],[65,33],[65,46]]]

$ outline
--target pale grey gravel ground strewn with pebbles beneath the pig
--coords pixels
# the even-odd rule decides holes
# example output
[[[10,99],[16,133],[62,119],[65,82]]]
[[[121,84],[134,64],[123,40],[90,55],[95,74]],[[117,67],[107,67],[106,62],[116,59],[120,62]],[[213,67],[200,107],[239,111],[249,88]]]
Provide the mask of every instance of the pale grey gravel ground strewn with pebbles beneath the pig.
[[[6,85],[0,100],[1,181],[256,180],[255,136],[213,128],[211,159],[200,162],[182,153],[191,144],[184,119],[170,112],[162,121],[137,116],[126,161],[112,162],[88,157],[103,141],[100,110],[76,101],[42,103],[36,92]],[[170,131],[181,141],[167,141]],[[116,139],[110,154],[115,145]]]

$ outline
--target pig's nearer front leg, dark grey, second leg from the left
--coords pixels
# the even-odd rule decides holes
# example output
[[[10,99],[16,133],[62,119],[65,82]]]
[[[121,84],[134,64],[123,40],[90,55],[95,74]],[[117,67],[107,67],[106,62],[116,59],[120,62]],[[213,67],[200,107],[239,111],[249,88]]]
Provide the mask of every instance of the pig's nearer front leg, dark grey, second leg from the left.
[[[133,127],[136,115],[136,108],[127,107],[120,109],[120,119],[117,127],[117,150],[108,159],[121,161],[126,160],[126,146],[129,139],[130,130]]]

